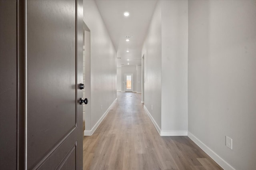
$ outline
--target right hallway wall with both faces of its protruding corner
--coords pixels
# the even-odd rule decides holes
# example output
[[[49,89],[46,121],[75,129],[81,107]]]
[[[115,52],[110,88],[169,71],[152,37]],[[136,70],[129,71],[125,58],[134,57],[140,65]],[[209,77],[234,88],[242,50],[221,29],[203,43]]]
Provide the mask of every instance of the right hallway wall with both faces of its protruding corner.
[[[153,123],[162,136],[187,135],[188,1],[157,2],[143,54],[144,106]]]

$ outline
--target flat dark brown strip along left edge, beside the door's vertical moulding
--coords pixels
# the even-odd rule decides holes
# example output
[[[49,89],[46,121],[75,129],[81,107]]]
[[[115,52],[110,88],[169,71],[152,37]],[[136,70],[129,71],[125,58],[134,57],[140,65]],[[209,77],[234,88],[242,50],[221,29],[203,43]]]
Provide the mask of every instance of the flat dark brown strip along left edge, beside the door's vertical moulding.
[[[0,0],[0,169],[16,169],[16,1]]]

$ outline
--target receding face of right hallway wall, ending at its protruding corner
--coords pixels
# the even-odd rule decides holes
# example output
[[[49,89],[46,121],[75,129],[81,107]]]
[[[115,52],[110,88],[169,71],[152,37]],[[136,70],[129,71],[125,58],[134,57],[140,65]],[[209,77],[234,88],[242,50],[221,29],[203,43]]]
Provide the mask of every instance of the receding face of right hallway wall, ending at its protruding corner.
[[[161,128],[161,3],[157,2],[142,48],[144,55],[144,107]],[[152,109],[153,105],[153,109]],[[158,129],[159,130],[159,129]]]

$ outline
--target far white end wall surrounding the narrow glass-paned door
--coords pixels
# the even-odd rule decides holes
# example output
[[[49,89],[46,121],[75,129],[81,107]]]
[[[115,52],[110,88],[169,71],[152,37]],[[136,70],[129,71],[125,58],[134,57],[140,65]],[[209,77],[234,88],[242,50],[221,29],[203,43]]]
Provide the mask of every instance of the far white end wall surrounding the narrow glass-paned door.
[[[124,74],[133,74],[133,89],[132,91],[137,91],[137,78],[136,78],[136,66],[122,66],[121,67],[121,86],[122,86],[122,91],[125,91],[124,85],[125,85],[125,79],[124,79]]]

